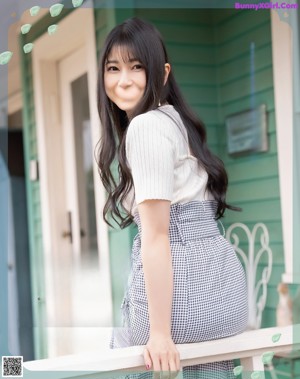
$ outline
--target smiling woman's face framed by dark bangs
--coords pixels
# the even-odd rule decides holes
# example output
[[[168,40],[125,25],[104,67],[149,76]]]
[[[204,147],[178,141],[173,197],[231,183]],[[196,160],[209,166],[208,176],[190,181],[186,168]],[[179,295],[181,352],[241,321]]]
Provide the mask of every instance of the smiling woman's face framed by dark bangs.
[[[105,62],[104,87],[108,98],[130,117],[145,92],[145,68],[135,57],[114,47]]]

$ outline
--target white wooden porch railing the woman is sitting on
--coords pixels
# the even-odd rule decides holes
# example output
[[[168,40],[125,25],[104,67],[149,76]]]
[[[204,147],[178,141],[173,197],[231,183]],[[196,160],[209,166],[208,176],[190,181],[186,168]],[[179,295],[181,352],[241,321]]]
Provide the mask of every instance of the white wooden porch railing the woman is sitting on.
[[[240,359],[242,378],[264,378],[264,361],[273,353],[300,350],[300,324],[251,330],[219,340],[177,345],[181,365]],[[143,346],[93,351],[24,363],[25,370],[53,371],[55,379],[106,379],[145,371]],[[55,375],[57,372],[57,376]],[[253,375],[253,372],[255,374]],[[24,372],[24,377],[30,377]],[[33,377],[42,374],[31,373]]]

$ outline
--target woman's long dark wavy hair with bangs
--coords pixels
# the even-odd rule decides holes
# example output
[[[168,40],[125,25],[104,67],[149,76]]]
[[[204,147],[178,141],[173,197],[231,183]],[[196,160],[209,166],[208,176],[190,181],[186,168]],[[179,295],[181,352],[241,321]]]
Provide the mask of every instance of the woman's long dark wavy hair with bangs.
[[[121,48],[124,60],[134,57],[143,65],[146,73],[146,88],[140,102],[128,119],[106,95],[104,71],[113,47]],[[228,177],[223,162],[208,149],[205,126],[186,104],[175,81],[172,70],[164,85],[165,63],[169,58],[158,30],[139,18],[131,18],[116,26],[107,36],[98,72],[98,112],[101,120],[101,138],[98,149],[98,166],[102,183],[107,191],[103,218],[109,222],[108,214],[123,229],[133,222],[132,215],[122,206],[133,187],[133,179],[127,164],[125,137],[130,120],[135,116],[156,109],[159,102],[174,106],[185,125],[191,153],[208,174],[207,190],[218,202],[216,219],[223,217],[225,209],[239,210],[226,203]],[[113,161],[117,159],[118,180],[113,174]]]

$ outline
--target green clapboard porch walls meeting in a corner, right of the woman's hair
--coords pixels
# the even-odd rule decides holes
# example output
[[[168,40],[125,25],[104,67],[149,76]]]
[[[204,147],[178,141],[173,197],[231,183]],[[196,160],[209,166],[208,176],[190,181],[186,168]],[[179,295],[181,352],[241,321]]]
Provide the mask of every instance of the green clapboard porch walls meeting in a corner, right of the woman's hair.
[[[270,12],[232,9],[145,9],[134,14],[161,31],[178,83],[207,127],[210,148],[229,174],[228,201],[243,212],[227,212],[225,227],[264,222],[270,232],[273,270],[262,326],[275,325],[277,284],[284,271],[276,126],[272,81]],[[231,158],[225,118],[267,105],[269,150]],[[242,238],[242,236],[241,236]],[[265,262],[263,256],[262,264]],[[258,273],[261,273],[262,265]]]

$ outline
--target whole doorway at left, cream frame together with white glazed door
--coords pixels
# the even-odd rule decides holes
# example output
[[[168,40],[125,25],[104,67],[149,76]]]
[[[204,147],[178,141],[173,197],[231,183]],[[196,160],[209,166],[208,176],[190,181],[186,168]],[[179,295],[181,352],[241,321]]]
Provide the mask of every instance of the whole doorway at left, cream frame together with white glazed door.
[[[48,357],[108,346],[112,325],[105,191],[94,158],[100,127],[93,9],[73,11],[59,31],[33,50]]]

